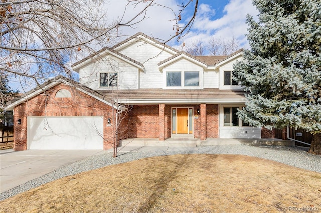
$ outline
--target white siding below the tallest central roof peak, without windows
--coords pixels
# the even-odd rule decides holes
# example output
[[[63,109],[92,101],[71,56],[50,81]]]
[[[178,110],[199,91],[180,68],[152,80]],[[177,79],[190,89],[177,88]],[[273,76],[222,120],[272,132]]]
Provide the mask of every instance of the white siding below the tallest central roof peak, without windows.
[[[162,88],[162,72],[158,68],[158,63],[171,57],[174,52],[169,53],[154,44],[146,42],[134,42],[120,53],[139,61],[144,65],[145,70],[139,75],[139,88]]]

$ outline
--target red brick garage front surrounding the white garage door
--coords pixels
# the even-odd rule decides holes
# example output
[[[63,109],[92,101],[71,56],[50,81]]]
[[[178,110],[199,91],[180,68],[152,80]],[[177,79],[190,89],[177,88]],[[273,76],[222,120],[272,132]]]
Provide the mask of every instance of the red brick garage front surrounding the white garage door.
[[[60,89],[66,89],[72,97],[56,98]],[[112,147],[113,129],[106,127],[108,118],[112,118],[112,108],[79,90],[58,84],[48,90],[46,95],[39,94],[14,108],[14,150],[27,150],[27,117],[29,116],[103,116],[104,150]],[[17,120],[21,124],[17,124]]]

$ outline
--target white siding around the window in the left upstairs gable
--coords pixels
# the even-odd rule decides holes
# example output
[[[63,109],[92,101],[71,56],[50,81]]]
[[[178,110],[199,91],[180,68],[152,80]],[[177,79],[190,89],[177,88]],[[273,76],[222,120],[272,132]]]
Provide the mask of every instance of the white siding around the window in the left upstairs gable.
[[[103,62],[105,61],[105,62]],[[111,89],[100,87],[100,73],[117,72],[119,89],[138,89],[138,68],[113,56],[84,66],[79,71],[79,81],[91,89]]]

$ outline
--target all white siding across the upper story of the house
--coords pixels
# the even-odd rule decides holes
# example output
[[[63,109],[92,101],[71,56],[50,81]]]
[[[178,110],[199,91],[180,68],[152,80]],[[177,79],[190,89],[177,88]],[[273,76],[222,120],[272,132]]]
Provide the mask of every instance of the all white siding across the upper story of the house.
[[[127,57],[134,59],[143,64],[144,70],[139,70],[126,60],[121,60],[114,56],[105,57],[103,62],[95,62],[84,66],[79,70],[80,82],[90,88],[109,89],[99,87],[100,72],[118,72],[119,89],[139,89],[139,88],[163,88],[166,87],[166,71],[199,71],[200,86],[199,87],[175,87],[177,89],[203,89],[203,88],[219,88],[224,89],[241,89],[238,85],[224,85],[224,71],[232,71],[233,64],[237,60],[241,60],[241,55],[233,56],[215,66],[208,67],[204,71],[204,67],[193,63],[191,60],[182,58],[173,60],[169,64],[159,70],[158,63],[168,59],[176,54],[175,51],[154,43],[147,38],[141,38],[139,41],[131,40],[131,43],[125,43],[116,48],[118,52]],[[102,61],[102,60],[101,60]],[[174,87],[171,87],[174,89]]]

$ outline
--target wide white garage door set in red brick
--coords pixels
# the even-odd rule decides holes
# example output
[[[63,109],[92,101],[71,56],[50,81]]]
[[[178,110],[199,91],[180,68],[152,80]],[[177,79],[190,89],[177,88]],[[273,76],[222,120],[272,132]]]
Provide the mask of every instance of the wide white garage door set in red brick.
[[[102,150],[103,117],[28,117],[28,149]]]

